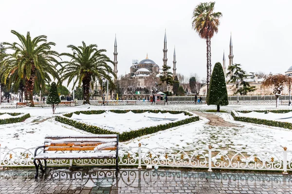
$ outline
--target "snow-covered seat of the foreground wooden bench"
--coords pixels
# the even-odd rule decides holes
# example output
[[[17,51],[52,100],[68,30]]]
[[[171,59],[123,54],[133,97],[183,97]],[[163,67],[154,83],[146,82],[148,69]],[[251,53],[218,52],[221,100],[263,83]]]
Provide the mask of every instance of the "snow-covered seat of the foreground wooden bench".
[[[57,159],[102,159],[102,158],[116,158],[116,154],[113,153],[40,153],[36,160],[57,160]]]

